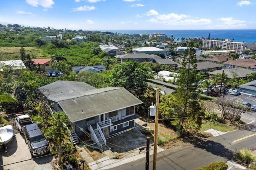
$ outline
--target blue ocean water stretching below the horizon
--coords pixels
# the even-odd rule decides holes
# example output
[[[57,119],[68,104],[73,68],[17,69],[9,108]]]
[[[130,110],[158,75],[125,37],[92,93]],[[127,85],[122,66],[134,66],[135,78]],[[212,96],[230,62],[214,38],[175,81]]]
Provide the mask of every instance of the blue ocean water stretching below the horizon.
[[[256,29],[214,29],[214,30],[100,30],[111,31],[122,34],[150,34],[165,33],[168,37],[173,35],[174,39],[184,38],[208,38],[211,39],[234,39],[233,42],[256,43]]]

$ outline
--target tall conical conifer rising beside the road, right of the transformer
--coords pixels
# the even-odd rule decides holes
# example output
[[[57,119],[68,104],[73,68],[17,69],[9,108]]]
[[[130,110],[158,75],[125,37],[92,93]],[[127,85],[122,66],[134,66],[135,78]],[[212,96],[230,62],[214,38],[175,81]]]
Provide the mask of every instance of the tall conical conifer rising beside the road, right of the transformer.
[[[201,111],[199,93],[193,84],[198,82],[196,51],[193,41],[189,42],[188,48],[182,56],[182,67],[179,73],[174,103],[169,102],[169,107],[171,107],[169,109],[171,111],[168,112],[169,117],[176,118],[171,123],[177,130],[197,131],[201,127],[201,116],[204,115],[204,112]],[[165,101],[163,100],[163,102]],[[166,110],[164,107],[161,108]]]

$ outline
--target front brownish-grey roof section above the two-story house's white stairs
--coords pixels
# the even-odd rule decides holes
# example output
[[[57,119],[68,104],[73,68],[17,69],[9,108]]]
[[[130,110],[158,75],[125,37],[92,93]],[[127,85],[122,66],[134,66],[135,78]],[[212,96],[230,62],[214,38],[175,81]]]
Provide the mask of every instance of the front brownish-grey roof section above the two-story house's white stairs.
[[[59,102],[71,122],[142,103],[125,88],[116,88]]]

